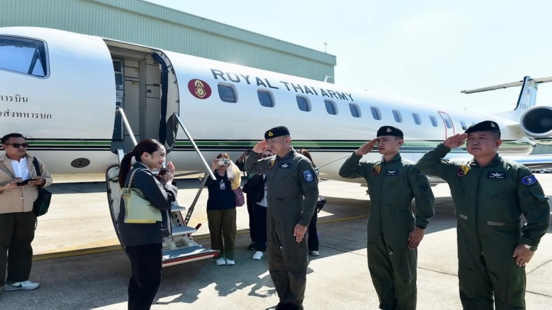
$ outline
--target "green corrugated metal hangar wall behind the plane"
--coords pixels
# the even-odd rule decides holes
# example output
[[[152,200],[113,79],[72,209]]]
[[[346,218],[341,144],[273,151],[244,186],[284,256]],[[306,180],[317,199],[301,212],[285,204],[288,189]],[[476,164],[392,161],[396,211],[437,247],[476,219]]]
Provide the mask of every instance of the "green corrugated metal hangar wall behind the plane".
[[[334,76],[336,64],[331,54],[141,0],[0,0],[0,26],[16,25],[94,34],[320,81]]]

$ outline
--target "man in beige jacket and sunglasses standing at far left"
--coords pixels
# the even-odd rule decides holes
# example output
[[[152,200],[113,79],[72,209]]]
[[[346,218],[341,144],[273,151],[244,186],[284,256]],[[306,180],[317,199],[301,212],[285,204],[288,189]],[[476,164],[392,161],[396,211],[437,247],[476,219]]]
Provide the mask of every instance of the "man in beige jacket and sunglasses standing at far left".
[[[29,280],[37,219],[32,204],[52,178],[38,158],[36,171],[21,134],[6,134],[1,142],[6,154],[0,155],[0,293],[36,289],[39,284]]]

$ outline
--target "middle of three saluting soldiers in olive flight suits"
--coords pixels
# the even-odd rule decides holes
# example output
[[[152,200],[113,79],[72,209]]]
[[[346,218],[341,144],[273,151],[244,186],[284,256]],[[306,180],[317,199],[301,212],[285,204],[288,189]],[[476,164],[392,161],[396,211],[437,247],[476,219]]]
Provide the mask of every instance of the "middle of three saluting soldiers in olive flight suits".
[[[376,143],[382,159],[359,163]],[[362,177],[368,183],[368,269],[380,309],[416,309],[417,246],[434,214],[428,180],[413,162],[401,158],[402,143],[401,130],[381,127],[377,138],[359,147],[339,169],[343,178]]]

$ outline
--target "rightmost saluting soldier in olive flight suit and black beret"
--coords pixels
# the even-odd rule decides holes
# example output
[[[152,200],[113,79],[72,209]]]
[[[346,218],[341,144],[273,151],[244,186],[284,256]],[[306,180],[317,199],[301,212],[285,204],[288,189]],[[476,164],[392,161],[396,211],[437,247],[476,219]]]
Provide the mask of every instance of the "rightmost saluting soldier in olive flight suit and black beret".
[[[442,159],[466,138],[471,160]],[[497,154],[501,144],[498,124],[483,121],[446,138],[416,163],[451,188],[464,309],[493,309],[493,295],[496,309],[525,309],[524,266],[550,223],[548,198],[538,180]]]

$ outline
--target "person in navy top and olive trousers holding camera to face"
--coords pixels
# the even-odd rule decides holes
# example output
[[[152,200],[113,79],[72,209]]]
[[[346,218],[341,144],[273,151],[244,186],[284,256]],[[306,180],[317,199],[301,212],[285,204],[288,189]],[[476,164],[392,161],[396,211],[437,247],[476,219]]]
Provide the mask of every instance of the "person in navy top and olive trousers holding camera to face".
[[[213,172],[216,180],[208,176],[206,183],[207,220],[211,247],[220,251],[217,265],[235,265],[234,248],[236,244],[236,202],[234,189],[242,183],[239,169],[230,155],[221,153],[213,159]]]

